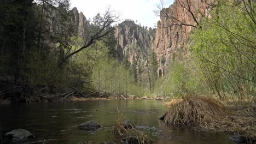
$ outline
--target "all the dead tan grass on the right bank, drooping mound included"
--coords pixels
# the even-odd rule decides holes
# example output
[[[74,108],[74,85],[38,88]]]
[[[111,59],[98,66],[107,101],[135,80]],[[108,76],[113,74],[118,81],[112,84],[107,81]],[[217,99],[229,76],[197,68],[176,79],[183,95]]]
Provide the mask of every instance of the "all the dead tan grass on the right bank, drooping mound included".
[[[165,122],[184,125],[197,130],[222,131],[226,133],[256,136],[256,108],[237,111],[229,109],[219,100],[211,97],[187,96],[173,99],[169,103],[170,111]]]

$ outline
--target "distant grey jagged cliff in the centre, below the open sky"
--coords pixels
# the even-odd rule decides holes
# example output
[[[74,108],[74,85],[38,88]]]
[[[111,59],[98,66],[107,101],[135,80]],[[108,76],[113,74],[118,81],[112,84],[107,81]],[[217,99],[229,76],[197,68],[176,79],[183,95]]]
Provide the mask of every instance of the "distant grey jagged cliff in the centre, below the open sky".
[[[131,20],[119,23],[115,28],[119,61],[122,61],[125,55],[130,62],[134,58],[146,59],[153,44],[154,36],[150,33],[153,31],[154,29],[148,30]]]

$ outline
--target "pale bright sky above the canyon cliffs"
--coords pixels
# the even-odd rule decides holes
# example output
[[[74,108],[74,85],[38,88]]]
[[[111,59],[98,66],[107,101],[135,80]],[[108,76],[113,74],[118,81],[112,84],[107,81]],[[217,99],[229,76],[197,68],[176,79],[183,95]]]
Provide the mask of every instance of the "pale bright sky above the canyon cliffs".
[[[86,19],[92,19],[97,13],[103,14],[107,7],[120,14],[119,19],[131,19],[141,26],[155,27],[160,18],[155,16],[154,10],[157,9],[160,0],[70,0],[71,8],[77,7],[82,11]],[[168,7],[173,0],[164,1],[164,6]]]

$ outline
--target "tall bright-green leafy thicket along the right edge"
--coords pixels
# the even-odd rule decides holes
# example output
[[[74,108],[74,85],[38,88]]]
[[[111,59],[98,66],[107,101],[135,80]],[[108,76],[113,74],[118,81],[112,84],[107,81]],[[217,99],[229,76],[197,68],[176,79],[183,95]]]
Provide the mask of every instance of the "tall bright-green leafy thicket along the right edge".
[[[211,19],[192,35],[191,51],[202,82],[220,99],[234,93],[240,100],[254,99],[256,85],[256,23],[242,3],[220,1]]]

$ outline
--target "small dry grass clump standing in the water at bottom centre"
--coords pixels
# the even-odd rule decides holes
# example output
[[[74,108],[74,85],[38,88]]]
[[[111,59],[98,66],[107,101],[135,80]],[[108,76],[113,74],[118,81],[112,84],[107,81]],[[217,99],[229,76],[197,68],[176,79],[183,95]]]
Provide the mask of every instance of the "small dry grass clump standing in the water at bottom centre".
[[[123,115],[118,116],[115,121],[114,133],[118,136],[121,136],[122,140],[125,140],[127,143],[138,143],[138,144],[154,144],[152,137],[149,137],[146,134],[143,134],[141,131],[137,130],[134,126],[129,128],[123,124],[125,118]]]

